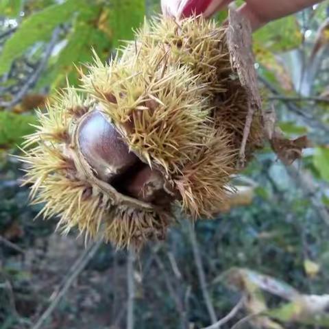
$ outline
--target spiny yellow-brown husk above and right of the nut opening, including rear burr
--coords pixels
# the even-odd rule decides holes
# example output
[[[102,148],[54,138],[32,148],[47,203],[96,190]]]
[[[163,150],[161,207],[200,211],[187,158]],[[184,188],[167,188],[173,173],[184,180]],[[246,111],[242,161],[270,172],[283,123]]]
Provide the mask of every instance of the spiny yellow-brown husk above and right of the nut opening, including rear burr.
[[[210,217],[226,200],[247,115],[245,90],[232,76],[226,28],[202,17],[156,19],[121,52],[115,64],[95,61],[83,78],[87,91],[101,101],[130,148],[175,182],[184,210]],[[118,80],[119,71],[124,74]],[[222,147],[212,144],[215,134]],[[223,174],[217,173],[221,168]]]

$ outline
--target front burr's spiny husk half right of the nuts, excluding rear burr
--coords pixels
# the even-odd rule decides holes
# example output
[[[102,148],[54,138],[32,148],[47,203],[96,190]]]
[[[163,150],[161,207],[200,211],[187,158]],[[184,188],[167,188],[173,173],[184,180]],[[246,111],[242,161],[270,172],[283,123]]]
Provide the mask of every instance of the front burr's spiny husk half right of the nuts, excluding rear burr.
[[[150,166],[162,169],[180,192],[186,213],[210,217],[225,202],[226,184],[236,171],[237,152],[230,145],[233,136],[223,125],[216,125],[213,109],[205,97],[208,84],[200,82],[186,65],[167,64],[157,49],[145,56],[147,61],[135,58],[130,62],[125,62],[123,56],[116,65],[103,64],[96,58],[90,73],[82,79],[84,88],[101,101],[127,145]],[[138,74],[128,75],[128,69]],[[216,147],[214,138],[219,143]],[[204,168],[206,159],[199,158],[200,154],[210,158]],[[215,170],[216,166],[225,175],[217,174],[221,169]],[[202,180],[199,174],[191,176],[190,167],[202,174],[214,170]],[[210,182],[213,191],[209,190]],[[206,201],[210,195],[211,202]]]

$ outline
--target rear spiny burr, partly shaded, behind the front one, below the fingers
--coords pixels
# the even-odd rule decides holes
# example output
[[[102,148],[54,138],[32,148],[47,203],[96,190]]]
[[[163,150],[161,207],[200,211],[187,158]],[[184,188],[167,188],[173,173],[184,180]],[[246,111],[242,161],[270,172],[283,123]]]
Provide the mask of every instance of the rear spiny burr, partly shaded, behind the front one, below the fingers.
[[[184,64],[197,75],[199,84],[207,84],[202,94],[208,97],[218,126],[228,127],[234,134],[232,146],[239,149],[248,112],[247,90],[231,66],[226,38],[227,27],[202,16],[191,16],[182,21],[156,18],[145,23],[137,32],[136,42],[123,49],[123,60],[130,61],[133,54],[143,62],[158,53],[169,64]],[[261,147],[263,128],[261,113],[254,113],[247,143],[247,158]]]

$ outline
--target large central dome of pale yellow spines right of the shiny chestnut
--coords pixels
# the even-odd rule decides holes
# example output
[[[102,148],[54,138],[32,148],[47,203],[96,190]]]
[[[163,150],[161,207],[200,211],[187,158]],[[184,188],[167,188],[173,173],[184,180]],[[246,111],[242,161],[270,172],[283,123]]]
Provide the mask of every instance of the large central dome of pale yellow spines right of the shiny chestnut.
[[[101,103],[127,145],[149,165],[179,172],[195,146],[211,132],[204,84],[186,66],[167,66],[165,58],[90,66],[82,88]]]

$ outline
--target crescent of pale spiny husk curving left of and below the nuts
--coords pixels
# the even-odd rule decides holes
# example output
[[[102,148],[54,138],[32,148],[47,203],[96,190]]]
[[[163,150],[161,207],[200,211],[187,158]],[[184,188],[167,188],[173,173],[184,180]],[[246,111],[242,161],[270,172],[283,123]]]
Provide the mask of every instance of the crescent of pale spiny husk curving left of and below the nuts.
[[[101,228],[103,239],[117,247],[130,243],[138,247],[147,237],[163,236],[170,216],[156,210],[115,206],[106,193],[77,171],[68,151],[72,130],[77,119],[93,110],[93,103],[67,88],[48,104],[46,113],[38,111],[39,125],[27,136],[20,157],[26,168],[24,184],[31,186],[32,203],[43,205],[38,215],[59,217],[58,229],[64,234],[77,228],[88,239],[97,236]]]

